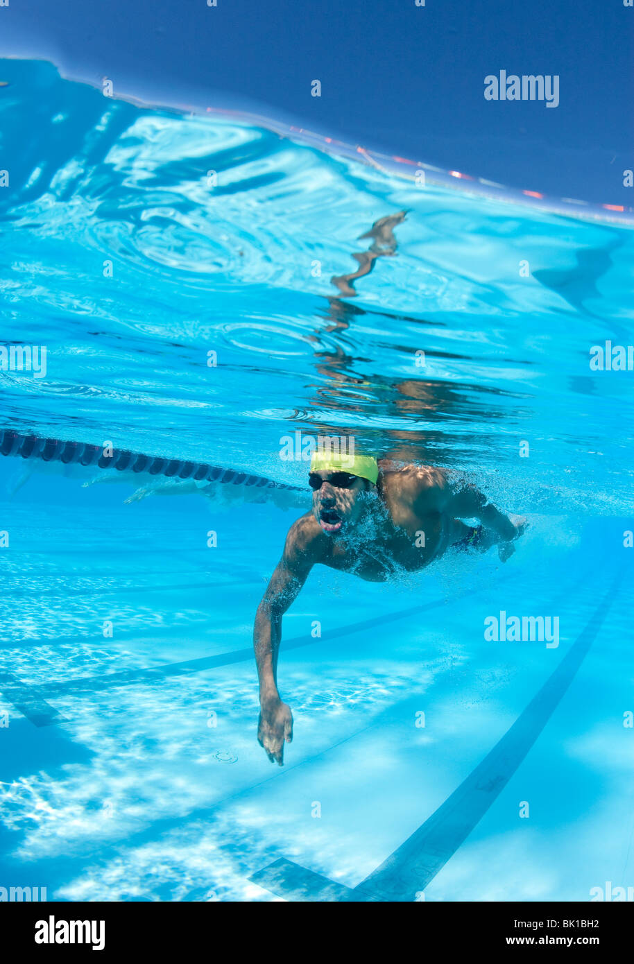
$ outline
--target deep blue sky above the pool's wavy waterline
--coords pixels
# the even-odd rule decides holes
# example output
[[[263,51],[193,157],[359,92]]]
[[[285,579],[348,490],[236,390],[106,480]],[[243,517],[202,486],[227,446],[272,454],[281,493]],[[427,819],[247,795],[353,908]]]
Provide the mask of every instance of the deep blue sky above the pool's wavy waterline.
[[[632,205],[634,8],[623,0],[11,0],[0,52],[116,91],[255,106],[515,187]],[[560,104],[486,101],[501,69]],[[310,95],[319,79],[322,96]]]

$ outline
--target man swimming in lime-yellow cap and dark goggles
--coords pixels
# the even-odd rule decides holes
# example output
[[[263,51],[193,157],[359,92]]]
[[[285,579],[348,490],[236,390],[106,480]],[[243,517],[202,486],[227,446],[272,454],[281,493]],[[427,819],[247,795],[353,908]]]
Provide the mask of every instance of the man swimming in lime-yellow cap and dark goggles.
[[[448,469],[317,450],[308,482],[312,510],[288,530],[253,629],[260,687],[257,738],[280,766],[284,742],[293,738],[293,716],[277,690],[281,620],[314,565],[380,582],[399,570],[424,569],[452,546],[484,552],[497,545],[505,561],[525,528],[525,520],[505,516]],[[480,525],[461,519],[477,519]]]

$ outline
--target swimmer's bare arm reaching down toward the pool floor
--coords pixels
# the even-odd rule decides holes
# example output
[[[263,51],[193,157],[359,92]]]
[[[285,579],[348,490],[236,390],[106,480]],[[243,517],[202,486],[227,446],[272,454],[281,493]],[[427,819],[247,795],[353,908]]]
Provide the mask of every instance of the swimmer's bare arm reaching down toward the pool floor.
[[[281,766],[284,740],[293,738],[293,716],[277,690],[277,655],[281,642],[281,619],[302,589],[313,560],[303,538],[304,520],[295,522],[268,588],[257,607],[253,649],[260,684],[260,718],[257,738],[271,762]]]

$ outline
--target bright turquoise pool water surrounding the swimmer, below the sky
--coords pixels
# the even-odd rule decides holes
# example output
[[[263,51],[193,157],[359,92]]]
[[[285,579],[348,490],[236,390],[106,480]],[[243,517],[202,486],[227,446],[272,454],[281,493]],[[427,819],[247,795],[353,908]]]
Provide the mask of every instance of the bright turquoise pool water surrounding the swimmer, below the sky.
[[[0,887],[347,899],[392,854],[370,899],[632,887],[634,373],[589,363],[632,341],[632,229],[0,68],[0,344],[47,349],[45,377],[0,372],[1,428],[298,485],[282,437],[353,433],[531,521],[504,565],[315,569],[284,617],[274,768],[248,651],[302,496],[130,500],[151,480],[0,458]],[[358,236],[405,209],[341,297]],[[487,641],[501,610],[559,616],[560,645]]]

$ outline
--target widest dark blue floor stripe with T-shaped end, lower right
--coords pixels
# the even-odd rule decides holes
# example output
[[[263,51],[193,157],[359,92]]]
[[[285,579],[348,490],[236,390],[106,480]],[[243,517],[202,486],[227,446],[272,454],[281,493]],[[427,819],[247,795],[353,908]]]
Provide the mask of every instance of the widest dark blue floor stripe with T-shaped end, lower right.
[[[482,763],[357,887],[339,884],[283,857],[249,879],[289,900],[415,900],[484,817],[542,733],[603,625],[623,576],[621,570],[557,669]]]

